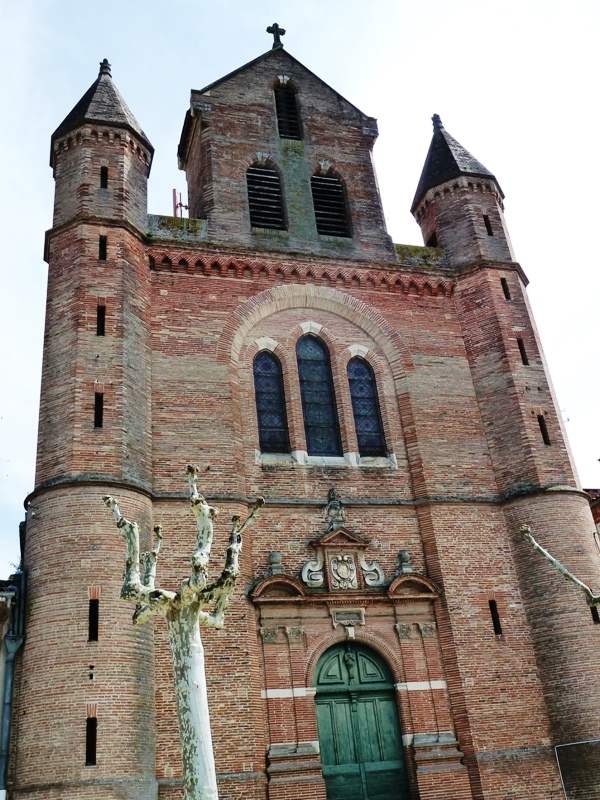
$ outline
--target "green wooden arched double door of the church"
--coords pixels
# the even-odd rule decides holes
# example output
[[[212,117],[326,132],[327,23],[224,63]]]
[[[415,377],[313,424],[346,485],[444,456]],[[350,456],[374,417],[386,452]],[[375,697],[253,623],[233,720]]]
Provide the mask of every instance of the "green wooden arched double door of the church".
[[[382,659],[347,642],[319,659],[315,697],[327,800],[407,800],[393,679]]]

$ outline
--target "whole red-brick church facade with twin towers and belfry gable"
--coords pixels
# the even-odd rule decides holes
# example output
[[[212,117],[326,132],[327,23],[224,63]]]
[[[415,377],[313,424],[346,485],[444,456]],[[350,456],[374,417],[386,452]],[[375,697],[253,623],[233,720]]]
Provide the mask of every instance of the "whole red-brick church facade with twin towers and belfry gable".
[[[277,42],[192,91],[189,219],[148,214],[108,62],[54,132],[13,800],[182,797],[165,626],[119,599],[102,497],[146,549],[162,525],[176,587],[188,463],[215,557],[266,499],[203,637],[222,800],[599,796],[595,751],[555,748],[600,738],[600,626],[520,526],[600,559],[502,189],[435,116],[425,245],[395,245],[376,137]]]

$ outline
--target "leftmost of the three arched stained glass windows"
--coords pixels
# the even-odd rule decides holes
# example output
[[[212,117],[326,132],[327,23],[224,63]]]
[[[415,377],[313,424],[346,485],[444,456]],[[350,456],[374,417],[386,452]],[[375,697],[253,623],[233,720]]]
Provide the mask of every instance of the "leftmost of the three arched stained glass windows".
[[[254,358],[254,391],[259,446],[263,453],[289,453],[290,437],[281,363],[263,350]]]

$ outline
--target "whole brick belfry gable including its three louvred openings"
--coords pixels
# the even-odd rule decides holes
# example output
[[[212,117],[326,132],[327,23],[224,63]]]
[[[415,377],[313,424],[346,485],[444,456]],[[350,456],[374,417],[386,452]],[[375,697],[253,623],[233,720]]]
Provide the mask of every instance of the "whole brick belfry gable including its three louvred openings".
[[[215,243],[395,260],[377,122],[274,48],[193,90],[179,143],[190,216]]]

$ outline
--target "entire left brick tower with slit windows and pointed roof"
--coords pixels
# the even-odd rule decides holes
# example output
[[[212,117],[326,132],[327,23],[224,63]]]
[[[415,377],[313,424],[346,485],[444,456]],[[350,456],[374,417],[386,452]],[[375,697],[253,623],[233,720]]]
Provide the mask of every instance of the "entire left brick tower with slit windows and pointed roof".
[[[18,787],[29,793],[43,783],[44,796],[56,784],[61,798],[75,800],[87,796],[92,777],[110,796],[157,795],[152,630],[132,626],[119,600],[123,545],[107,533],[102,503],[118,485],[125,513],[152,530],[143,238],[152,153],[105,59],[52,135],[54,227],[46,237],[38,458],[24,555],[30,580],[19,702],[28,714],[16,732],[15,798],[23,796]],[[45,715],[52,737],[40,737],[34,722]]]

